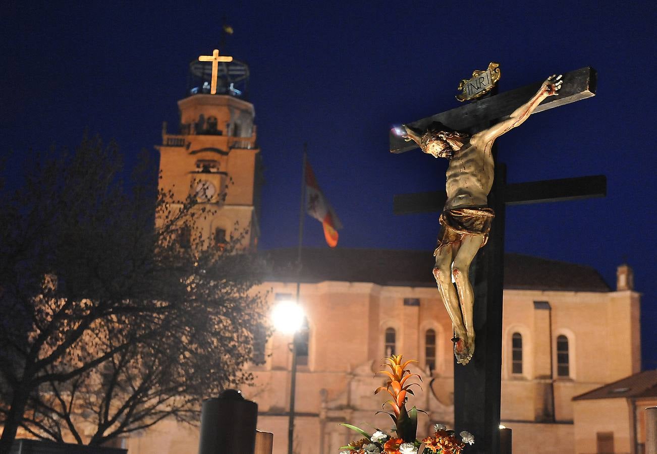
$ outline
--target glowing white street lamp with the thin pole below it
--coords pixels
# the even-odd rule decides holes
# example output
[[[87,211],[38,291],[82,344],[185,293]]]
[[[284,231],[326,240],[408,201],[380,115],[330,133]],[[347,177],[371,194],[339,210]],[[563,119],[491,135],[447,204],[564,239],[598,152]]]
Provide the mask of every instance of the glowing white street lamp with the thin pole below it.
[[[281,300],[271,311],[271,321],[277,331],[283,334],[293,334],[292,341],[292,373],[290,374],[290,420],[288,422],[288,454],[294,447],[294,397],[296,394],[296,334],[304,326],[306,314],[303,307],[293,300]]]

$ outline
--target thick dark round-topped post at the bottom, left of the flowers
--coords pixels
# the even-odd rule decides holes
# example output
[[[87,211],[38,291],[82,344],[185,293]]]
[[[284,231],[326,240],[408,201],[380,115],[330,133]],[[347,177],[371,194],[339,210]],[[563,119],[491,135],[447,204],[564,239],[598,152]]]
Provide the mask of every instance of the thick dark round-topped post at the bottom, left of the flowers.
[[[203,401],[198,454],[253,454],[258,404],[225,390]]]

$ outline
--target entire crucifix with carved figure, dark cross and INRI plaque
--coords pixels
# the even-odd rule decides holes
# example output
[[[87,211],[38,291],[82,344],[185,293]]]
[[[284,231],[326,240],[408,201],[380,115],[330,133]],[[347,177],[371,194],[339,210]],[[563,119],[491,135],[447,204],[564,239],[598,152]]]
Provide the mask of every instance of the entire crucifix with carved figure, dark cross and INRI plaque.
[[[434,277],[455,332],[455,427],[466,428],[479,440],[468,447],[469,453],[499,452],[505,205],[606,193],[604,176],[506,185],[505,166],[497,162],[493,141],[533,113],[594,96],[595,76],[593,68],[581,68],[390,132],[391,152],[419,146],[450,160],[447,191],[397,195],[394,209],[406,214],[440,211],[444,205]],[[486,77],[472,80],[468,90],[491,91],[489,85],[480,87],[489,82]]]

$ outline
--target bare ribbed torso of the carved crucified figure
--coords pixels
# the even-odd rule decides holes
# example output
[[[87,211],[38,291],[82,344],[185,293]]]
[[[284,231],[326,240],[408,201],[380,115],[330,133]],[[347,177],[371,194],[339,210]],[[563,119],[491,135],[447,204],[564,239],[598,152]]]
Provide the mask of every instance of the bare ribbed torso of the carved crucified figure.
[[[449,161],[445,210],[486,206],[493,187],[492,141],[484,143],[476,135]]]

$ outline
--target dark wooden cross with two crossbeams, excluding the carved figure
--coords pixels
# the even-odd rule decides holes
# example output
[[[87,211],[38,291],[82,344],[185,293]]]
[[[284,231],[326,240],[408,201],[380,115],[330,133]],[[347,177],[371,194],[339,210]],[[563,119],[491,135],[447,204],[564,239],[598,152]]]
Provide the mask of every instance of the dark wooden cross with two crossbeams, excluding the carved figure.
[[[593,68],[568,72],[564,74],[563,80],[559,95],[545,99],[533,113],[595,95],[596,73]],[[536,93],[541,82],[459,106],[408,125],[424,130],[437,121],[457,131],[472,134],[488,127],[491,122],[497,123],[507,118]],[[414,142],[407,142],[394,130],[390,131],[391,152],[401,153],[413,148],[417,148]],[[455,430],[468,430],[476,440],[474,445],[466,447],[467,453],[499,453],[505,206],[606,194],[606,178],[602,175],[507,185],[506,167],[497,162],[496,154],[493,150],[495,179],[488,196],[488,205],[495,210],[495,219],[489,240],[477,254],[470,270],[474,278],[471,281],[475,293],[476,349],[467,365],[458,365],[456,361],[454,363]],[[399,194],[394,198],[394,212],[410,214],[441,211],[446,198],[444,191]]]

